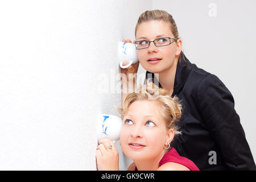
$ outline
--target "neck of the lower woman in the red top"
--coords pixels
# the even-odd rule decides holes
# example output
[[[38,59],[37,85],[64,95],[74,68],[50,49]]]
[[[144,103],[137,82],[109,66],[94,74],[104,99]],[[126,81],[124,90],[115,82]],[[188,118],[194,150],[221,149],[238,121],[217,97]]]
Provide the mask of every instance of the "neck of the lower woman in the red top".
[[[153,159],[134,160],[135,166],[137,167],[138,171],[156,171],[164,154],[166,154],[165,150],[163,150],[162,154]]]

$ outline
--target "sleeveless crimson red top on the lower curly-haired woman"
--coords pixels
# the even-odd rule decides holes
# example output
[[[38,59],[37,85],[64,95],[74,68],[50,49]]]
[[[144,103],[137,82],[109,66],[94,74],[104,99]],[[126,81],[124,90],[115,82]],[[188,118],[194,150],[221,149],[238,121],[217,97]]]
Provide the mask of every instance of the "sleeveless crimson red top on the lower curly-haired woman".
[[[196,167],[195,163],[187,158],[184,158],[183,156],[180,156],[174,147],[172,147],[170,151],[164,154],[163,158],[159,162],[159,167],[165,163],[170,162],[181,164],[189,168],[191,171],[199,171],[199,168]],[[137,167],[135,167],[135,171],[138,171]]]

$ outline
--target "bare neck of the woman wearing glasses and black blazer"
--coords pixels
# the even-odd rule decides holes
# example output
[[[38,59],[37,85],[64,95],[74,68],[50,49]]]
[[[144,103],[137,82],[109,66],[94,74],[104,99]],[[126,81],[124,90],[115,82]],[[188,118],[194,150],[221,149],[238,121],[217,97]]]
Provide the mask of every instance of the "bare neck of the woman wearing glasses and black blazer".
[[[175,74],[176,74],[178,59],[179,57],[175,58],[174,64],[172,64],[170,68],[158,74],[155,74],[155,77],[158,79],[162,87],[169,91],[170,96],[172,95],[172,92],[174,92],[174,81],[175,81]]]

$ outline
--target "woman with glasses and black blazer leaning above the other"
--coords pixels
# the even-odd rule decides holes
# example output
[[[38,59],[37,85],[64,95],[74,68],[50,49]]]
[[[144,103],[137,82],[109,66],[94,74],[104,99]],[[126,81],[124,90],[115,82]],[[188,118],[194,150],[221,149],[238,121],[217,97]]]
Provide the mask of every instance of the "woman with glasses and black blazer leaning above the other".
[[[121,70],[122,102],[127,87],[136,87],[140,63],[147,71],[146,79],[181,101],[178,127],[182,134],[171,142],[179,155],[192,160],[200,170],[255,170],[232,94],[217,76],[185,57],[172,16],[162,10],[145,11],[139,16],[135,38],[139,62]]]

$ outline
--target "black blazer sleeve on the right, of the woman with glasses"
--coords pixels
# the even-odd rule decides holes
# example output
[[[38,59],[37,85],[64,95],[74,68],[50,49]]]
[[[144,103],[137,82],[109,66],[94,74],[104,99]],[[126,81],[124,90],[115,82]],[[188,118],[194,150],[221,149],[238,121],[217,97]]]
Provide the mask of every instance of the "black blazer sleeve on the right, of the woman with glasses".
[[[234,98],[217,76],[207,75],[197,90],[197,106],[204,124],[231,170],[256,170]]]

